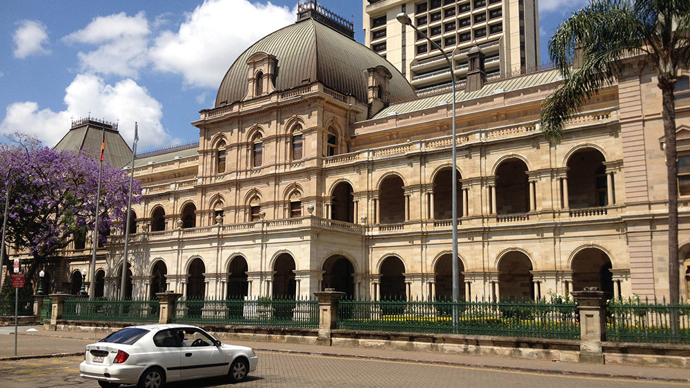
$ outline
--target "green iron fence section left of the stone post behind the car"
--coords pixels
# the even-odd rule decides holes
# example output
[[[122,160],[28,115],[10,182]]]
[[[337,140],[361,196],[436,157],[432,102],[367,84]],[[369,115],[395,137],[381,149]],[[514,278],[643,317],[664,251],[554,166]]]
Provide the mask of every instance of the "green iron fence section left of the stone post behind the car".
[[[111,322],[157,323],[158,300],[65,300],[62,318],[78,320],[104,320]]]

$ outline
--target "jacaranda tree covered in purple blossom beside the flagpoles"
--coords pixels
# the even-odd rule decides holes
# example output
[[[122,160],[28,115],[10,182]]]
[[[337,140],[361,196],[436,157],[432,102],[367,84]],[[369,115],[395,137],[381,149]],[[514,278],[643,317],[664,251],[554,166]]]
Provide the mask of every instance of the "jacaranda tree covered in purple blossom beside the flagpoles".
[[[54,259],[79,234],[91,235],[95,223],[99,159],[86,152],[57,152],[22,134],[0,145],[0,210],[10,188],[6,244],[33,256],[26,276]],[[9,178],[4,178],[10,171]],[[139,201],[135,181],[132,203]],[[99,241],[126,219],[129,178],[126,172],[103,163]],[[0,213],[1,218],[1,213]],[[11,273],[11,263],[3,263]]]

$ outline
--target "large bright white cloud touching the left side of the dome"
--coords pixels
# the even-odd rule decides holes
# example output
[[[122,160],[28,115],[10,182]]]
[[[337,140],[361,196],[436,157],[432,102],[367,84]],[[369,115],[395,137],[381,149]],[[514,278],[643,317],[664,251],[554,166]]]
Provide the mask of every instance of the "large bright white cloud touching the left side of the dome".
[[[250,44],[294,21],[292,10],[270,2],[206,0],[177,32],[156,38],[150,58],[157,70],[181,74],[187,85],[217,88]]]

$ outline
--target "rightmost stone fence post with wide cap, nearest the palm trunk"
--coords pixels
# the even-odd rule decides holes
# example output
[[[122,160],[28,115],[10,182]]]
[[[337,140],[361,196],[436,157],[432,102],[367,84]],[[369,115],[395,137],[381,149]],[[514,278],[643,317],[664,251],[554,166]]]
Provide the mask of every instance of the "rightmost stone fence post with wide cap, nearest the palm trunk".
[[[580,312],[580,362],[603,364],[602,342],[606,340],[606,301],[610,292],[585,287],[573,292]]]

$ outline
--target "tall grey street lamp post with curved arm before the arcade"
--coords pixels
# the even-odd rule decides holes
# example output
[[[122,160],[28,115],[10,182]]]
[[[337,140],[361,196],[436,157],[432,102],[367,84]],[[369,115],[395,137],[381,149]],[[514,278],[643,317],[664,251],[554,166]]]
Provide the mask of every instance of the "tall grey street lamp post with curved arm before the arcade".
[[[457,153],[457,143],[455,143],[455,69],[453,69],[453,63],[451,63],[451,59],[448,57],[448,54],[444,52],[443,48],[441,48],[439,45],[437,45],[434,41],[429,39],[429,37],[424,34],[424,32],[420,31],[419,28],[415,27],[415,25],[412,23],[412,19],[407,16],[405,12],[400,12],[397,14],[395,17],[397,21],[400,21],[403,25],[409,25],[413,30],[417,32],[417,34],[421,34],[422,37],[424,37],[433,47],[437,48],[441,54],[443,54],[443,57],[446,59],[446,62],[448,63],[448,68],[451,70],[451,83],[452,85],[452,90],[453,90],[453,103],[452,103],[452,110],[453,110],[453,151],[451,153],[451,158],[453,159],[453,172],[451,172],[451,179],[453,180],[452,183],[452,190],[453,190],[453,205],[452,209],[453,212],[451,216],[453,217],[452,220],[452,225],[453,225],[453,258],[452,263],[453,263],[453,303],[457,303],[458,298],[460,298],[460,289],[458,288],[458,279],[459,279],[459,274],[458,271],[460,270],[457,266],[457,162],[456,162],[456,153]],[[433,211],[433,210],[432,210]],[[453,325],[457,325],[457,305],[453,307]]]

